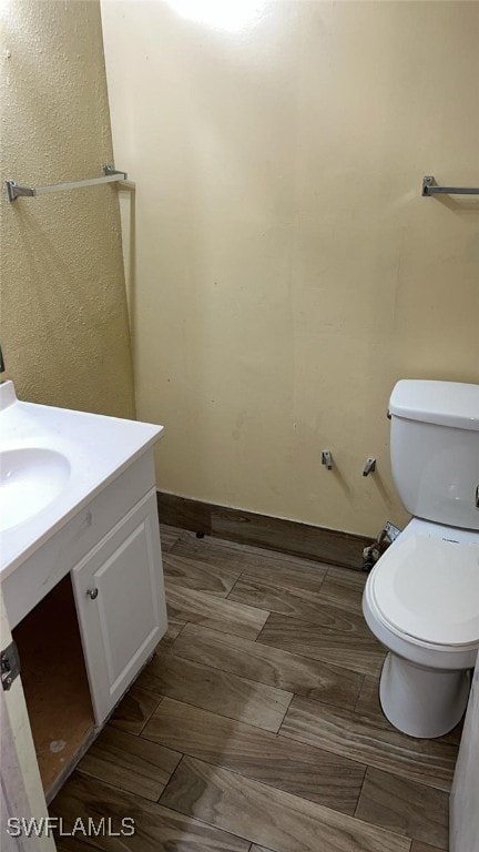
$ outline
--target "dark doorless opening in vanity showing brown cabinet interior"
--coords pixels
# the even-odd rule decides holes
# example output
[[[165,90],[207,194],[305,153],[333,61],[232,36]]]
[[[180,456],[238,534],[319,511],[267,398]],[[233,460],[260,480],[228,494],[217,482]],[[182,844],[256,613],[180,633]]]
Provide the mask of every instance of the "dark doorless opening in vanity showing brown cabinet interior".
[[[94,729],[70,575],[29,612],[12,636],[49,800]]]

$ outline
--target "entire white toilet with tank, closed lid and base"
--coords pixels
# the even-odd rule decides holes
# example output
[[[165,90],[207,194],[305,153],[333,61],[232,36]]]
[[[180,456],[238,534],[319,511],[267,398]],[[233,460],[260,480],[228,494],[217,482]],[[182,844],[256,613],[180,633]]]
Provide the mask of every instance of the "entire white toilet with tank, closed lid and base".
[[[411,737],[466,709],[479,649],[479,385],[402,379],[389,400],[393,477],[412,520],[368,576],[365,619],[388,649],[379,698]]]

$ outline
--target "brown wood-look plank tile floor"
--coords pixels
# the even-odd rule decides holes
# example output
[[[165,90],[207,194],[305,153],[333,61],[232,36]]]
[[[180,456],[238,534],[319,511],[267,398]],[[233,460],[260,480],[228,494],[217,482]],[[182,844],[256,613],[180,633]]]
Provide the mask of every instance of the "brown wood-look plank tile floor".
[[[170,627],[51,804],[105,852],[439,852],[460,731],[381,713],[365,576],[162,529]]]

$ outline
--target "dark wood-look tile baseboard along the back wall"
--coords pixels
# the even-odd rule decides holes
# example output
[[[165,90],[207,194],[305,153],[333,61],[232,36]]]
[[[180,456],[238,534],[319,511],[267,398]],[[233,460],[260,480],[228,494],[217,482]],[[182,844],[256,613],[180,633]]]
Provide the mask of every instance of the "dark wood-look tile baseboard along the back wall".
[[[164,491],[157,491],[157,504],[163,524],[354,570],[360,570],[363,549],[371,544],[366,536],[230,509]]]

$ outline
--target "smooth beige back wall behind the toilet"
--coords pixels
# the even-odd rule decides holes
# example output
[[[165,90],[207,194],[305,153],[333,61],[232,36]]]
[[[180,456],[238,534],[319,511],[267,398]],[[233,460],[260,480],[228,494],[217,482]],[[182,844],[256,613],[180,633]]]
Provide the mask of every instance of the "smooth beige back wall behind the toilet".
[[[396,379],[479,381],[479,202],[420,197],[478,184],[479,3],[228,7],[102,4],[139,414],[162,489],[376,534]]]

